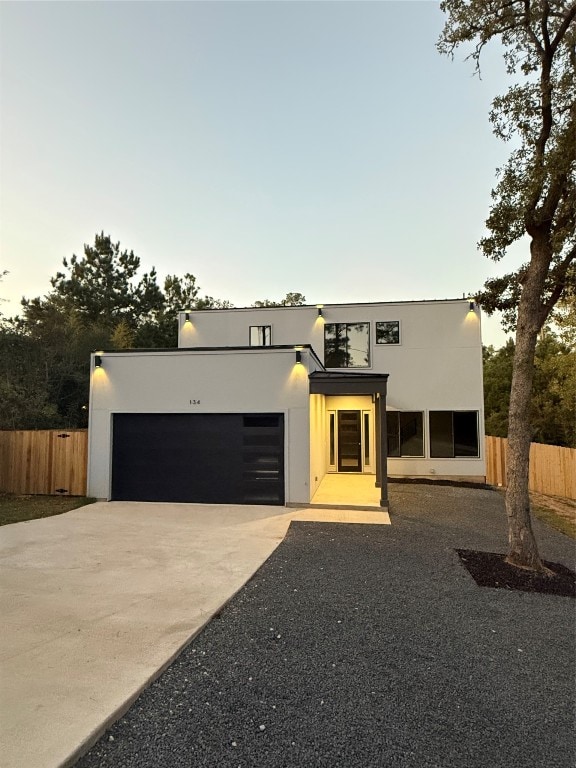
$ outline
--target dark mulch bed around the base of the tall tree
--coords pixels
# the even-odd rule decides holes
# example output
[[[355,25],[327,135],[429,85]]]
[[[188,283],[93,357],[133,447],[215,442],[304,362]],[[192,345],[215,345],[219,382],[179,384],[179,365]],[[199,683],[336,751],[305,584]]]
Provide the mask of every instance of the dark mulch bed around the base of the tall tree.
[[[576,574],[561,563],[543,561],[552,575],[534,573],[505,562],[506,555],[457,549],[462,565],[479,587],[518,589],[544,595],[576,597]]]

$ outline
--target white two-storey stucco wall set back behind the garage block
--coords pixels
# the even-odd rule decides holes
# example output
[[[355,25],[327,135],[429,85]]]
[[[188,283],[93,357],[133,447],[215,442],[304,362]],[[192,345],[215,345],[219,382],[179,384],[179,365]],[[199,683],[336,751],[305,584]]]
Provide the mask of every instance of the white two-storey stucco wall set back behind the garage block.
[[[324,358],[324,324],[370,323],[371,365],[353,369],[387,373],[388,407],[424,414],[424,458],[391,458],[389,474],[485,476],[481,317],[468,300],[338,304],[316,307],[210,310],[179,316],[182,347],[248,345],[251,325],[270,325],[272,344],[311,344]],[[400,344],[375,343],[375,323],[400,322]],[[428,415],[433,410],[479,414],[478,458],[430,458]],[[315,475],[314,475],[315,476]]]

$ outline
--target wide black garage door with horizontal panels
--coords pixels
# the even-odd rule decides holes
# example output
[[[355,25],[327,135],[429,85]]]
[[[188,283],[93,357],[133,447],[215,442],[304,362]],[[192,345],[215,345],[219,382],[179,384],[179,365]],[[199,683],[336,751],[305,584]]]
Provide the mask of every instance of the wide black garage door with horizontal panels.
[[[284,416],[117,413],[112,499],[284,504]]]

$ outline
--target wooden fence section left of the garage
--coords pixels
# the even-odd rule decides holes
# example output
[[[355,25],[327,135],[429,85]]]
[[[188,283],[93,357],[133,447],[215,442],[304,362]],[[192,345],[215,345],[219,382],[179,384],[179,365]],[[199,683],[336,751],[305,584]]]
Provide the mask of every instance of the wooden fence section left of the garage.
[[[0,491],[86,495],[87,429],[0,431]]]

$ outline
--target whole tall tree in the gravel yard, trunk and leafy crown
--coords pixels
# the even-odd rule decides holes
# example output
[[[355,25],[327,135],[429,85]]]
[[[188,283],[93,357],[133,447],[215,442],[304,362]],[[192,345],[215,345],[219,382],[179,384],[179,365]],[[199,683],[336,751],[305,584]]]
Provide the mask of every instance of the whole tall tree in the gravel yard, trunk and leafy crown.
[[[543,571],[530,519],[529,420],[538,334],[556,303],[576,285],[576,2],[443,0],[441,53],[471,49],[479,71],[484,47],[497,40],[514,84],[492,103],[494,133],[512,141],[498,171],[488,234],[496,261],[524,235],[529,259],[488,280],[478,299],[501,310],[516,330],[508,425],[508,562]]]

